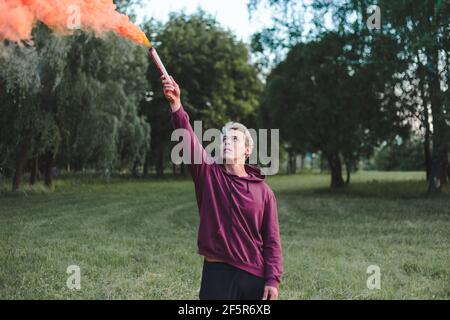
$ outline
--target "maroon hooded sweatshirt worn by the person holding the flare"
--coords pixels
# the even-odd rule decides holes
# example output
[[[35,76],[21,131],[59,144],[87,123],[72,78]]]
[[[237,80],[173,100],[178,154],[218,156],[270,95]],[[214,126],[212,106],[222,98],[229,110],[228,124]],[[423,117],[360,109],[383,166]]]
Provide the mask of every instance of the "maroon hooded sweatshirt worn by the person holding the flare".
[[[257,167],[245,165],[238,177],[206,153],[183,107],[171,113],[175,128],[186,129],[191,150],[188,165],[200,213],[198,253],[224,261],[277,287],[283,272],[278,211],[273,191]],[[194,157],[202,159],[194,164]],[[199,161],[197,161],[199,162]]]

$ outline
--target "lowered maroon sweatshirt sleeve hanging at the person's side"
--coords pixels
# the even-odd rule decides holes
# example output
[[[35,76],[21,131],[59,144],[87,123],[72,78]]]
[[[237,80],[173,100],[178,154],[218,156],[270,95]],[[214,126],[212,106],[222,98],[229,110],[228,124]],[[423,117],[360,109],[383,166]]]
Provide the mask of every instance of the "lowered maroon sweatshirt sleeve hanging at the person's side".
[[[270,194],[265,203],[262,238],[266,285],[278,287],[283,273],[283,257],[281,252],[277,202],[272,190],[270,190]]]

